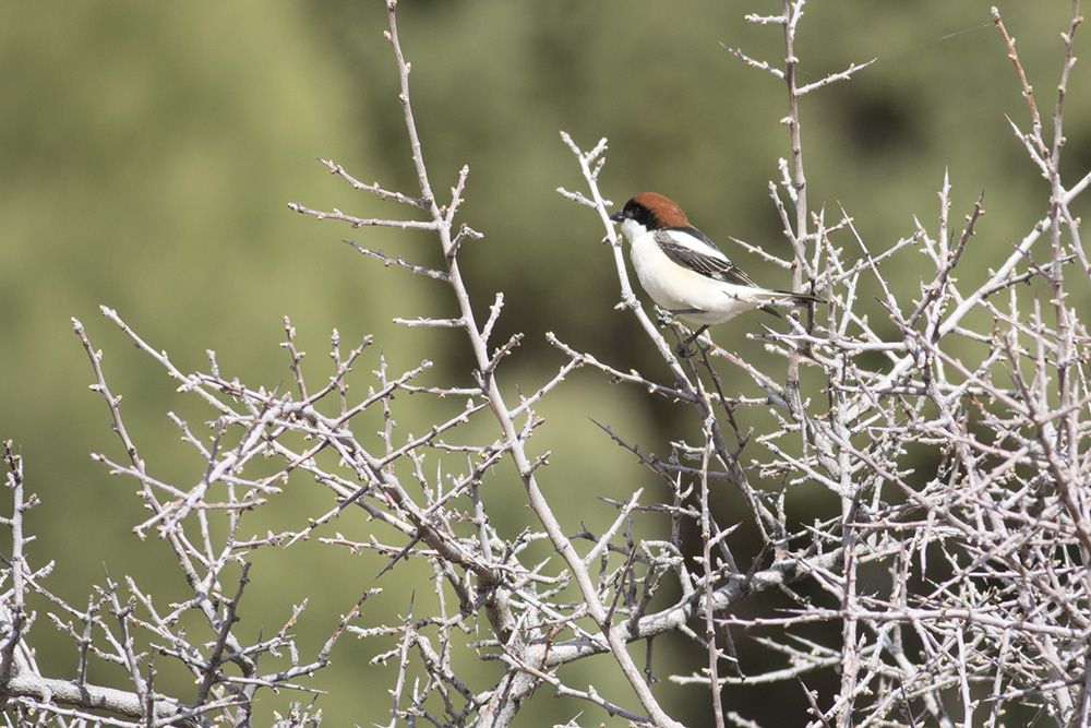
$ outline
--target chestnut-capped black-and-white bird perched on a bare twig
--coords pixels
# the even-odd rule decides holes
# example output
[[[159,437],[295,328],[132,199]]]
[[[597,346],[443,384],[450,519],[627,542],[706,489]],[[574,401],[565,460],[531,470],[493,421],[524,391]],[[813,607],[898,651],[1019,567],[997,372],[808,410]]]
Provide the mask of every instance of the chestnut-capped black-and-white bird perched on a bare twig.
[[[705,330],[740,313],[763,309],[780,315],[770,307],[825,303],[810,294],[758,286],[690,224],[678,203],[658,192],[637,194],[610,219],[621,223],[636,276],[652,300],[700,326],[679,344],[679,356],[693,356],[690,345]]]

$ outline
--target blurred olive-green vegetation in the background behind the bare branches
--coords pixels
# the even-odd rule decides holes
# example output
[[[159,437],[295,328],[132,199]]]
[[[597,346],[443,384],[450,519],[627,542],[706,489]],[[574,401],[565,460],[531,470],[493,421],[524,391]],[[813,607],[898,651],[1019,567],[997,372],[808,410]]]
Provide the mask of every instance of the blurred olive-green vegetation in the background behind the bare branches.
[[[985,191],[987,215],[968,253],[966,276],[1005,255],[1007,239],[1024,235],[1044,213],[1044,182],[1004,118],[1027,127],[1026,104],[988,4],[813,2],[796,49],[804,82],[878,58],[853,81],[803,102],[812,205],[825,205],[830,222],[843,205],[872,250],[880,250],[913,232],[914,215],[935,231],[936,190],[949,166],[952,219],[960,220]],[[1011,4],[1009,28],[1041,89],[1040,108],[1048,114],[1067,3],[1034,3],[1033,10]],[[442,194],[459,167],[469,165],[463,220],[485,234],[464,249],[463,270],[482,312],[495,291],[506,294],[496,341],[516,331],[527,335],[502,370],[509,391],[533,391],[561,363],[544,343],[547,331],[621,369],[666,372],[632,317],[613,309],[618,286],[612,256],[598,242],[604,231],[597,218],[554,191],[583,189],[559,130],[585,148],[600,136],[610,139],[600,182],[615,204],[646,189],[663,192],[756,281],[788,284],[783,271],[728,240],[734,236],[788,255],[767,191],[767,181],[779,177],[778,157],[789,153],[787,128],[778,123],[787,114],[783,87],[719,45],[776,62],[783,56],[779,28],[745,23],[743,15],[778,8],[712,0],[404,0],[401,37],[413,67],[413,103],[433,186]],[[375,335],[358,367],[357,387],[368,385],[380,349],[395,373],[427,357],[437,362],[431,382],[467,382],[469,358],[456,334],[391,323],[396,315],[451,315],[449,291],[384,270],[340,242],[352,238],[436,264],[434,240],[351,230],[286,206],[296,201],[360,216],[409,214],[353,193],[314,160],[333,158],[364,181],[413,192],[385,23],[379,0],[5,7],[0,438],[15,441],[31,489],[44,501],[31,516],[38,534],[33,564],[55,559],[49,588],[73,604],[85,602],[91,585],[105,583],[107,573],[115,580],[132,574],[167,598],[182,598],[184,584],[164,545],[141,544],[130,533],[144,513],[135,484],[110,477],[88,458],[91,452],[119,460],[123,453],[104,403],[87,391],[92,370],[70,317],[83,320],[104,349],[110,383],[124,396],[129,427],[151,470],[180,484],[199,477],[201,463],[178,442],[166,411],[194,423],[212,416],[175,394],[163,371],[99,317],[99,305],[116,308],[182,370],[207,367],[205,350],[214,349],[225,373],[251,385],[290,381],[278,346],[285,314],[298,329],[300,347],[310,351],[305,362],[315,381],[328,371],[325,353],[336,327],[345,346]],[[1078,55],[1087,48],[1079,40],[1091,43],[1078,36]],[[1068,98],[1065,165],[1072,179],[1091,166],[1088,77],[1078,65]],[[850,237],[841,242],[855,254]],[[898,273],[896,285],[912,291],[921,273]],[[883,319],[878,306],[873,319]],[[779,367],[744,338],[750,330],[740,319],[712,334],[748,359]],[[722,373],[729,391],[757,394],[739,372]],[[547,423],[536,434],[537,446],[553,452],[541,478],[564,503],[570,532],[578,530],[579,518],[601,524],[612,517],[592,494],[624,498],[644,487],[645,501],[663,496],[656,478],[637,468],[592,418],[661,453],[697,427],[684,409],[637,389],[608,386],[589,371],[570,378],[541,411]],[[431,414],[417,406],[401,425],[406,431],[424,427]],[[479,432],[493,437],[483,421]],[[506,491],[493,497],[492,515],[494,522],[511,518],[515,536],[526,515],[514,473],[501,465],[488,487]],[[254,524],[254,533],[298,528],[302,517],[331,502],[303,479],[277,498],[276,509],[262,515],[273,522]],[[812,512],[836,508],[825,492],[815,490],[811,499]],[[730,521],[730,513],[722,517]],[[334,526],[331,534],[359,540],[369,533],[357,515]],[[298,629],[313,652],[336,614],[376,585],[386,592],[369,602],[368,620],[397,621],[395,614],[408,611],[410,590],[416,587],[423,604],[431,582],[427,571],[405,565],[395,578],[375,581],[382,565],[314,544],[260,553],[242,629],[277,629],[290,606],[309,595]],[[55,644],[53,633],[39,616],[34,641],[44,665],[71,675],[74,653]],[[669,647],[660,649],[666,655]],[[385,691],[393,671],[368,665],[375,651],[346,640],[334,653],[335,666],[316,678],[315,685],[331,693],[319,705],[332,725],[388,718]],[[472,667],[476,659],[459,661]],[[631,704],[626,688],[603,682],[606,666],[590,661],[582,668],[587,677],[572,683],[595,681]],[[495,672],[489,664],[482,669]],[[110,670],[96,672],[109,679]],[[189,683],[180,684],[184,700]],[[482,677],[475,687],[487,684]],[[768,695],[778,707],[799,692],[776,690]],[[686,716],[688,725],[707,719],[703,691],[664,688],[663,694],[680,716],[688,704],[702,706]],[[266,695],[263,709],[283,712],[290,697]],[[538,695],[536,715],[520,725],[564,721],[583,709],[590,711],[588,724],[604,719],[586,705],[548,697]]]

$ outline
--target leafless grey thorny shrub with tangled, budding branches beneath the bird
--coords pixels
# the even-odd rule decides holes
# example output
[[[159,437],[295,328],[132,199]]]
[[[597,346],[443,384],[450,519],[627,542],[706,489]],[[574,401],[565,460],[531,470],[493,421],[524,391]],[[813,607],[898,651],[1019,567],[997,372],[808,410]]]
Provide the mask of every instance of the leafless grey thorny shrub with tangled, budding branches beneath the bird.
[[[469,383],[421,383],[431,366],[427,359],[401,372],[387,371],[380,359],[376,380],[361,396],[348,382],[353,365],[370,356],[370,341],[346,348],[335,332],[332,373],[315,372],[304,368],[286,320],[283,346],[291,357],[293,381],[269,390],[221,375],[215,358],[207,371],[182,371],[105,309],[178,383],[182,396],[201,399],[212,413],[211,439],[176,417],[184,441],[207,464],[199,482],[183,486],[158,479],[154,464],[142,458],[108,384],[101,353],[75,321],[94,367],[94,386],[128,453],[125,462],[98,457],[140,484],[149,515],[137,532],[169,544],[177,559],[171,566],[181,570],[192,596],[163,604],[133,580],[108,582],[86,607],[52,595],[50,566],[32,566],[24,556],[31,536],[23,515],[37,501],[27,494],[22,460],[9,443],[4,461],[12,501],[2,523],[11,547],[3,554],[0,605],[0,694],[9,723],[251,725],[260,692],[317,682],[315,673],[328,664],[334,643],[350,632],[397,642],[393,651],[375,651],[379,659],[397,666],[392,703],[384,708],[391,726],[505,726],[536,690],[585,701],[589,724],[611,715],[633,724],[680,725],[657,696],[656,637],[692,641],[706,651],[707,661],[670,680],[706,689],[716,684],[708,711],[717,725],[755,725],[744,706],[723,700],[729,693],[722,688],[775,681],[792,690],[802,684],[813,695],[811,725],[816,726],[995,726],[1020,705],[1031,706],[1020,714],[1028,725],[1088,725],[1089,339],[1067,286],[1072,276],[1081,284],[1091,276],[1079,219],[1069,208],[1091,175],[1066,184],[1059,167],[1078,2],[1062,36],[1066,60],[1052,84],[1057,94],[1046,118],[1039,110],[1044,102],[1033,93],[994,10],[1029,107],[1029,121],[1012,121],[1012,128],[1047,180],[1048,195],[1041,222],[1012,236],[1006,259],[986,276],[962,276],[972,283],[956,273],[982,203],[961,211],[964,224],[954,224],[946,178],[935,227],[922,225],[892,244],[863,239],[848,213],[827,219],[808,206],[800,99],[864,65],[800,85],[793,44],[803,4],[784,0],[780,15],[748,17],[783,28],[787,64],[730,49],[788,89],[792,154],[769,193],[794,259],[770,260],[791,271],[796,290],[813,290],[829,301],[802,318],[789,317],[787,333],[757,336],[782,357],[783,369],[762,371],[707,335],[699,356],[674,357],[656,317],[634,295],[625,252],[608,220],[611,203],[599,191],[604,140],[585,152],[564,135],[586,187],[562,192],[598,215],[616,262],[622,306],[640,322],[671,375],[658,381],[623,371],[551,335],[565,363],[529,393],[513,396],[500,371],[519,336],[496,341],[493,335],[504,297],[496,296],[488,317],[479,320],[459,270],[461,246],[478,235],[458,218],[468,170],[458,174],[441,201],[421,154],[409,64],[391,1],[387,37],[419,189],[383,189],[333,162],[324,164],[355,189],[395,200],[413,217],[370,219],[291,207],[353,227],[433,234],[444,262],[437,268],[358,248],[387,266],[449,287],[455,317],[404,323],[460,332],[472,359]],[[890,282],[899,266],[912,265],[919,274],[919,256],[909,261],[910,251],[924,251],[927,271],[915,297],[907,300]],[[669,331],[683,333],[675,323]],[[540,421],[535,407],[577,367],[601,370],[603,384],[635,385],[634,396],[646,392],[679,403],[702,433],[698,440],[679,441],[664,461],[611,430],[673,498],[649,499],[662,503],[649,505],[642,503],[639,490],[633,492],[616,503],[616,520],[599,534],[578,532],[575,518],[558,515],[558,503],[538,481],[549,453],[529,444]],[[765,396],[729,396],[717,367],[751,378]],[[444,414],[423,433],[406,438],[393,420],[401,406],[395,396],[409,394],[418,402],[434,401]],[[751,433],[742,423],[756,410],[771,411],[776,427]],[[460,439],[467,423],[482,421],[491,422],[492,434]],[[922,453],[938,461],[934,472],[920,472],[920,463],[927,462]],[[512,472],[537,522],[523,533],[490,520],[490,497],[481,489],[489,478]],[[507,475],[494,475],[500,473]],[[267,497],[292,474],[327,488],[336,504],[309,514],[305,528],[253,536],[248,517],[269,508]],[[757,480],[779,487],[758,488]],[[802,482],[824,487],[840,505],[837,517],[793,525],[788,509],[799,492],[793,487]],[[739,520],[760,535],[755,557],[736,558],[730,538],[734,526],[712,517],[709,492],[717,484],[736,489],[747,504]],[[504,496],[514,497],[511,488]],[[386,624],[362,618],[371,589],[347,597],[345,616],[329,625],[328,641],[315,654],[301,654],[293,639],[302,605],[275,633],[257,641],[240,637],[233,626],[250,583],[250,554],[327,534],[324,527],[349,511],[367,514],[367,529],[323,536],[331,547],[372,551],[387,569],[420,561],[434,574],[430,587],[421,584],[411,613]],[[663,524],[670,524],[671,537],[650,538]],[[687,525],[696,526],[699,544],[684,542]],[[555,556],[531,560],[529,546],[540,542]],[[862,586],[863,570],[882,577]],[[799,596],[793,585],[801,583],[818,596]],[[793,608],[740,616],[741,605],[770,590],[787,595]],[[676,598],[652,608],[664,593]],[[74,680],[49,678],[37,668],[31,628],[41,617],[27,607],[32,595],[49,605],[48,619],[71,636],[82,666]],[[192,614],[199,616],[200,629],[191,622],[187,630],[183,617]],[[484,620],[477,624],[480,616]],[[806,628],[814,624],[829,625],[826,633],[838,639],[807,637]],[[742,634],[777,655],[782,666],[751,672],[732,649],[733,635]],[[643,665],[632,656],[634,643],[645,646]],[[457,649],[477,649],[501,664],[502,677],[477,684],[460,675],[452,660]],[[612,668],[624,676],[639,709],[625,707],[631,694],[566,681],[566,665],[600,654],[612,656]],[[153,655],[192,673],[192,699],[157,691]],[[91,683],[85,669],[93,660],[118,666],[129,684]],[[810,681],[830,675],[839,681],[835,695],[811,692]],[[372,715],[360,723],[377,719]],[[300,703],[277,725],[319,720],[316,711]]]

